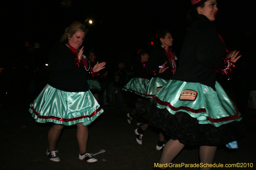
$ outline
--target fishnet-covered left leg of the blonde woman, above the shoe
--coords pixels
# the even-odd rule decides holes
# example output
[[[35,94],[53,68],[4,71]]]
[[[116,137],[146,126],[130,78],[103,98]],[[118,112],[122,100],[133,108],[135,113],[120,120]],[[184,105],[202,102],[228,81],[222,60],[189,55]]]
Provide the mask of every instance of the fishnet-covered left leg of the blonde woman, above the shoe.
[[[54,124],[48,132],[48,143],[49,149],[48,152],[52,152],[56,150],[56,144],[60,138],[61,130],[63,129],[64,125],[61,124]]]

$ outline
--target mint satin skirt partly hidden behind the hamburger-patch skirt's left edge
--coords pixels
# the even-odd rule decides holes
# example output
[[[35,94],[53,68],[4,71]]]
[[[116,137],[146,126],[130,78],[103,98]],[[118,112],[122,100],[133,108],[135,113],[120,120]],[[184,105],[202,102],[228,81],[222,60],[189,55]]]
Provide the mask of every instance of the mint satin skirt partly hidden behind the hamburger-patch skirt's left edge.
[[[151,78],[145,90],[145,97],[155,97],[156,93],[158,92],[157,88],[164,86],[167,82],[168,80],[162,78]]]

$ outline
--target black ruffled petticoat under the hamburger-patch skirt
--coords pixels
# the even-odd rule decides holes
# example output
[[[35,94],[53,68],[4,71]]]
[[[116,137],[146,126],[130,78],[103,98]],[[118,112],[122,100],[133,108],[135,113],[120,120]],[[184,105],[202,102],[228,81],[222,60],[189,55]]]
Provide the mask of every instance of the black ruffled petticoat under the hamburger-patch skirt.
[[[149,124],[161,128],[173,140],[184,145],[219,146],[236,141],[244,136],[244,119],[215,127],[212,124],[199,124],[188,113],[172,115],[166,108],[156,107],[156,99],[136,103],[138,114],[148,119]]]

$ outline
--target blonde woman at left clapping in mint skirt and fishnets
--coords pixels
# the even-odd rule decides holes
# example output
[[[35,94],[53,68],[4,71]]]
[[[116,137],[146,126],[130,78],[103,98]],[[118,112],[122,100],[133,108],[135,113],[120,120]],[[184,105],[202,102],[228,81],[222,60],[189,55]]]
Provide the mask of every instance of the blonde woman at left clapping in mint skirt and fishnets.
[[[30,104],[29,112],[36,122],[53,122],[48,132],[47,156],[59,162],[56,144],[64,126],[77,126],[79,159],[88,163],[97,162],[87,153],[88,128],[103,110],[88,91],[87,75],[104,68],[106,63],[91,67],[83,57],[83,43],[86,29],[80,22],[73,22],[49,55],[49,81],[36,100]]]

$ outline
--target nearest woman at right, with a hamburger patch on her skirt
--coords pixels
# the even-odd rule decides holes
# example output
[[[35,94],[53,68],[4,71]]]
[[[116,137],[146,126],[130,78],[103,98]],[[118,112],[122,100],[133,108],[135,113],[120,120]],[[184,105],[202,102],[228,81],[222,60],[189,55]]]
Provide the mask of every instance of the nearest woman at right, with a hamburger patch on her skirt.
[[[201,163],[211,164],[217,146],[234,142],[244,133],[241,114],[216,82],[216,72],[230,72],[241,55],[234,51],[223,57],[225,45],[212,23],[218,11],[216,0],[191,2],[191,12],[196,10],[197,14],[190,15],[193,18],[179,68],[152,100],[154,113],[147,115],[171,137],[159,164],[170,163],[184,145],[200,145]]]

